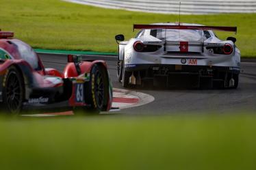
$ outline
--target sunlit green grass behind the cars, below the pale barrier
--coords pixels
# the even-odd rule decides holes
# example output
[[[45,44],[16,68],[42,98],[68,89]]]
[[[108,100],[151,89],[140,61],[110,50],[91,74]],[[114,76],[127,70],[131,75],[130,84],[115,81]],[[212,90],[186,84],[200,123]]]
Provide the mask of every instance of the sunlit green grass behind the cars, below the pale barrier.
[[[256,14],[181,15],[183,23],[237,26],[243,57],[256,57]],[[1,0],[0,27],[34,48],[116,52],[114,36],[133,37],[133,23],[175,22],[177,15],[107,10],[59,0]],[[220,38],[234,36],[220,33]]]

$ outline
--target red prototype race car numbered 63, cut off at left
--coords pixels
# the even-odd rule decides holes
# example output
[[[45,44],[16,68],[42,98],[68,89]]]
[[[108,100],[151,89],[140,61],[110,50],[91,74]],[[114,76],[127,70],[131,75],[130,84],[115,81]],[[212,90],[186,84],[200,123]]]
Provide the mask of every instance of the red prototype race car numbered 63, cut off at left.
[[[68,101],[76,109],[108,111],[112,106],[112,85],[105,61],[81,61],[68,55],[63,73],[44,68],[34,50],[0,30],[1,110],[19,113],[24,106]]]

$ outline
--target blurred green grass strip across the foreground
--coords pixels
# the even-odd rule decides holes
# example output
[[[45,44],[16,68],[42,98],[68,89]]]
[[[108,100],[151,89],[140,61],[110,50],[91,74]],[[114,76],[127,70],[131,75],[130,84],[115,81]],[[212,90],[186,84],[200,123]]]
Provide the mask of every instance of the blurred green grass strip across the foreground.
[[[0,117],[0,169],[256,169],[255,115]]]

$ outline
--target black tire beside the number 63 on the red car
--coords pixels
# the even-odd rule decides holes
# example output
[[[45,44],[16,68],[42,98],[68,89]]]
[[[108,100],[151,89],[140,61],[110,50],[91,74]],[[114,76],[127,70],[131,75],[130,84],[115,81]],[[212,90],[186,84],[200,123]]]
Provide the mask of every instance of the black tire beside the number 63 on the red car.
[[[90,112],[105,111],[109,98],[109,82],[107,70],[103,66],[95,64],[90,72],[90,82],[85,85],[86,88],[86,103],[90,104]]]

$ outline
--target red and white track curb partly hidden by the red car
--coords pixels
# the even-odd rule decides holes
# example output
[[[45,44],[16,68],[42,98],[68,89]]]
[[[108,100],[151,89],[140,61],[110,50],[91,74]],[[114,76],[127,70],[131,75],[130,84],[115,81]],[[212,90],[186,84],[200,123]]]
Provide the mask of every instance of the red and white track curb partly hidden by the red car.
[[[120,111],[122,109],[127,109],[131,107],[139,107],[144,104],[153,102],[155,98],[149,94],[144,94],[138,91],[131,91],[127,89],[113,89],[113,101],[112,101],[112,111]],[[107,114],[104,112],[103,114]],[[43,113],[43,114],[31,114],[31,115],[22,115],[29,117],[50,117],[56,115],[73,115],[73,111],[64,111],[58,113]]]

